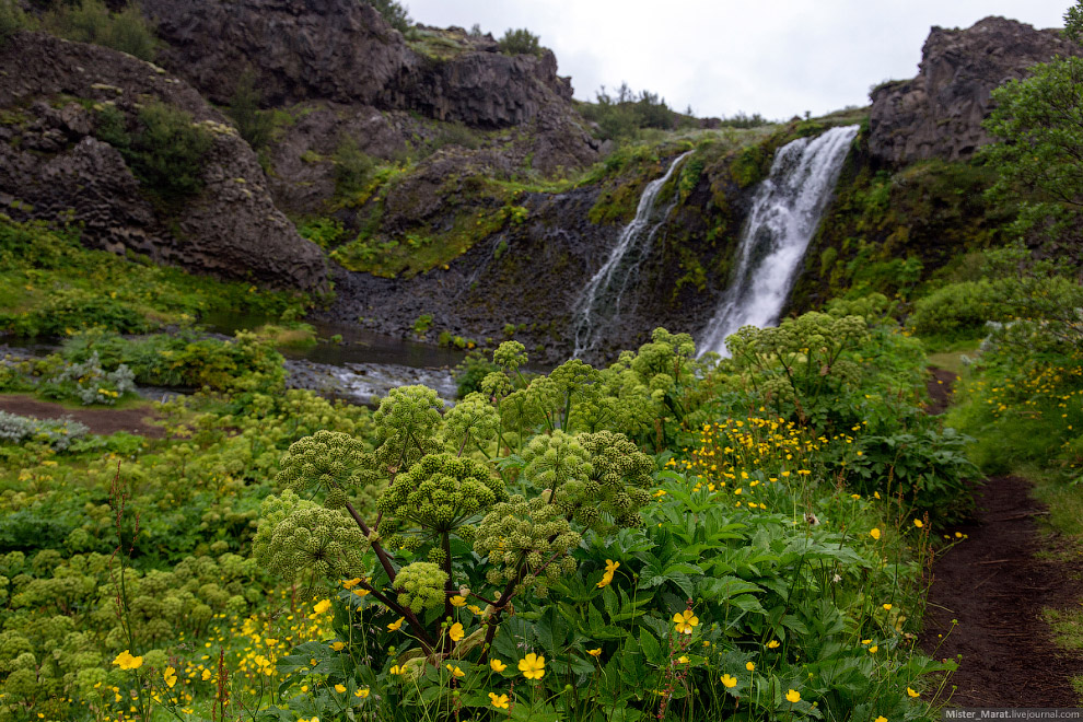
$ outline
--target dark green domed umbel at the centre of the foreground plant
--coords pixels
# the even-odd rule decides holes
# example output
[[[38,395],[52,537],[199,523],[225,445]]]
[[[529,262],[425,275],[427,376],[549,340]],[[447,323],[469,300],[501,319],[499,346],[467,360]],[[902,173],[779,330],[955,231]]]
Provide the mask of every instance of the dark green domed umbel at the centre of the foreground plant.
[[[392,520],[381,524],[382,535],[417,526],[427,535],[458,529],[508,498],[504,482],[481,462],[452,454],[430,454],[399,474],[380,499],[377,508]],[[394,542],[389,542],[394,545]]]

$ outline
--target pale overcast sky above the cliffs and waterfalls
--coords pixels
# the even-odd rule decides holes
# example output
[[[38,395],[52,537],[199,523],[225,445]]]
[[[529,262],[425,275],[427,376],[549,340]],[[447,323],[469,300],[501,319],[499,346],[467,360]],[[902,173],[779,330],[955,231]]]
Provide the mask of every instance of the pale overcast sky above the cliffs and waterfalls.
[[[865,105],[912,78],[932,25],[1003,15],[1059,27],[1071,0],[404,0],[415,21],[500,37],[527,27],[552,48],[575,97],[601,85],[659,93],[699,116],[771,119]]]

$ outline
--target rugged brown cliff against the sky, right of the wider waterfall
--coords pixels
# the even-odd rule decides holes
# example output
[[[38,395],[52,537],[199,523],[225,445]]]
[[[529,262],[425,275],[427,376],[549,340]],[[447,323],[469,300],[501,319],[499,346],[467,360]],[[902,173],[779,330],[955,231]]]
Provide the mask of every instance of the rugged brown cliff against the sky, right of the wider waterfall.
[[[968,158],[994,140],[981,128],[994,88],[1024,78],[1027,68],[1053,56],[1079,54],[1059,31],[1003,18],[986,18],[967,30],[933,27],[918,77],[872,91],[870,153],[895,166]]]

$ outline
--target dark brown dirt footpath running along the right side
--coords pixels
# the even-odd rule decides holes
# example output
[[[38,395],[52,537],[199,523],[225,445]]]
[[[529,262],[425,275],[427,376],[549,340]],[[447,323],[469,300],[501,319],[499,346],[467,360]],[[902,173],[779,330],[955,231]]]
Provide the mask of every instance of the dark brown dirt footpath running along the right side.
[[[936,371],[931,412],[946,407],[954,380]],[[1041,612],[1078,604],[1083,584],[1064,562],[1036,558],[1048,548],[1035,523],[1046,510],[1026,480],[986,479],[975,498],[975,519],[947,531],[968,538],[933,566],[921,648],[936,659],[963,655],[951,707],[1076,707],[1071,677],[1083,675],[1083,659],[1053,647]]]

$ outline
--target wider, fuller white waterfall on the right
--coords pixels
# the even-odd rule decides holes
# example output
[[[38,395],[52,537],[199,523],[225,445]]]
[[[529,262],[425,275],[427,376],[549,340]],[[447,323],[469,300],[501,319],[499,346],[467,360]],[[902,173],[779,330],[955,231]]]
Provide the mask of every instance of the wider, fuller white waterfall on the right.
[[[762,328],[778,323],[857,135],[858,126],[831,128],[779,149],[770,175],[753,196],[736,270],[701,334],[700,353],[727,356],[726,336],[742,326]]]

